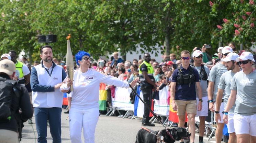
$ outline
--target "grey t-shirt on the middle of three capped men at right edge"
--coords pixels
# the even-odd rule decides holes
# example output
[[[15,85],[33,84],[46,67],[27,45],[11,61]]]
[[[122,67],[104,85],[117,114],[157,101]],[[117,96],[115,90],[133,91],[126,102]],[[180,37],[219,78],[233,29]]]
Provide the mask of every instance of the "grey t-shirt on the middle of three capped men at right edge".
[[[225,90],[224,109],[226,108],[227,100],[229,100],[229,96],[231,93],[230,86],[231,86],[232,79],[233,79],[234,75],[235,75],[235,73],[233,73],[232,70],[230,70],[230,71],[223,73],[221,76],[221,79],[220,79],[220,84],[219,84],[218,88]],[[229,112],[235,112],[235,106],[236,106],[236,104],[234,104],[232,106],[232,108],[230,109]]]

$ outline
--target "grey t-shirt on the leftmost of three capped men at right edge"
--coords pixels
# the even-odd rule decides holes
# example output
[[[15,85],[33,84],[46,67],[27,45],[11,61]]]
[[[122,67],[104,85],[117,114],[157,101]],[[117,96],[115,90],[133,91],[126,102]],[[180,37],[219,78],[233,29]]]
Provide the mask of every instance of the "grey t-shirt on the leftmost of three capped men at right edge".
[[[214,82],[214,91],[213,91],[213,100],[216,101],[218,86],[220,83],[220,78],[223,73],[227,71],[227,67],[222,65],[221,62],[217,63],[215,66],[212,67],[210,74],[208,76],[208,81]],[[225,96],[225,90],[223,92],[223,97]]]

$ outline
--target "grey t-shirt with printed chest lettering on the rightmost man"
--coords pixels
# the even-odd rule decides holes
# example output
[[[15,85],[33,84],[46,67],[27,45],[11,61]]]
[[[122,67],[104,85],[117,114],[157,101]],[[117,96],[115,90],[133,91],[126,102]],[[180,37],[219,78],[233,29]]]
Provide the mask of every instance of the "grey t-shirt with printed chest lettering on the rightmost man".
[[[243,116],[256,114],[256,70],[250,74],[237,72],[230,89],[237,90],[235,113]]]

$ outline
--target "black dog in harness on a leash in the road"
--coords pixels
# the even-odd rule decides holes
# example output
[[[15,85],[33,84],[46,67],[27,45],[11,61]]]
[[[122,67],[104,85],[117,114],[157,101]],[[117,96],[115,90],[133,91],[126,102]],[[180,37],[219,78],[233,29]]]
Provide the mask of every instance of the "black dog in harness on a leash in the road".
[[[185,128],[181,128],[181,127],[168,129],[172,138],[166,132],[165,129],[161,131],[153,131],[151,129],[147,129],[147,130],[141,129],[138,131],[135,143],[156,143],[156,142],[174,143],[175,141],[179,141],[181,139],[188,140],[191,135],[191,133],[187,132]]]

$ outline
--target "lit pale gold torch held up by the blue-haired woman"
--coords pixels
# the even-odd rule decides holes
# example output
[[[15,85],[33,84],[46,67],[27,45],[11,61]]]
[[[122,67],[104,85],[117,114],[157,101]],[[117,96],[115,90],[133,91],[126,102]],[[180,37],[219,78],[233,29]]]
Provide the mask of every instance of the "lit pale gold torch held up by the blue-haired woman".
[[[68,70],[68,78],[73,81],[74,77],[74,60],[73,55],[70,48],[69,42],[70,34],[66,37],[67,39],[67,55],[66,55],[66,62],[67,62],[67,70]],[[70,85],[70,91],[73,91],[73,85]]]

